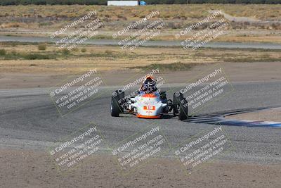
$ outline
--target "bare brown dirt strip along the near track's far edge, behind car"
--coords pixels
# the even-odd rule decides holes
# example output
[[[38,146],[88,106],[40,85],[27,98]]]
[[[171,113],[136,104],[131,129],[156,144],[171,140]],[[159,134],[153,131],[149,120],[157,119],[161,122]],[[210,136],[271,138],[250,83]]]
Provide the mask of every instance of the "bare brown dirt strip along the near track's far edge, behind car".
[[[205,71],[210,71],[211,68],[214,68],[214,65],[197,65],[188,71],[165,72],[162,77],[164,77],[166,83],[185,83]],[[220,65],[230,82],[281,80],[280,62],[221,63]],[[122,85],[124,80],[136,75],[136,70],[102,72],[100,75],[107,85]],[[0,73],[0,89],[55,87],[55,85],[71,76],[57,73]]]

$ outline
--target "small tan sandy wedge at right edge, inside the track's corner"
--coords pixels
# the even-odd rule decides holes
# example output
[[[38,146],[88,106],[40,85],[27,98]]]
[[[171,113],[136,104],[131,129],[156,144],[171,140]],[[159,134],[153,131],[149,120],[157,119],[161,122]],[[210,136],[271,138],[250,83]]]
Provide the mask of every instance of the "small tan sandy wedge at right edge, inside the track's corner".
[[[281,108],[226,116],[227,119],[281,122]]]

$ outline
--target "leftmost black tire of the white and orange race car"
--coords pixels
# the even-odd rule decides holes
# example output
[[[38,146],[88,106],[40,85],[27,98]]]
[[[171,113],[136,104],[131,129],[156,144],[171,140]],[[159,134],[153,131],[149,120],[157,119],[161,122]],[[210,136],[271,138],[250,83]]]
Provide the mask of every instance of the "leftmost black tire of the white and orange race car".
[[[110,106],[111,116],[119,117],[120,113],[124,113],[124,107],[122,106],[124,96],[124,92],[119,92],[117,90],[113,92]]]

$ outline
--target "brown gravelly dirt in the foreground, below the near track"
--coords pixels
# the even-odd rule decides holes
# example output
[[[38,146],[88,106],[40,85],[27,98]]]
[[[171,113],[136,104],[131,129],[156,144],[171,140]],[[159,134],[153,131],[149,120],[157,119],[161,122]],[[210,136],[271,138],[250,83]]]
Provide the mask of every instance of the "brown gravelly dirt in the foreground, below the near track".
[[[0,149],[1,187],[280,187],[281,165],[207,163],[187,174],[176,160],[155,158],[129,175],[112,156],[57,170],[44,151]]]

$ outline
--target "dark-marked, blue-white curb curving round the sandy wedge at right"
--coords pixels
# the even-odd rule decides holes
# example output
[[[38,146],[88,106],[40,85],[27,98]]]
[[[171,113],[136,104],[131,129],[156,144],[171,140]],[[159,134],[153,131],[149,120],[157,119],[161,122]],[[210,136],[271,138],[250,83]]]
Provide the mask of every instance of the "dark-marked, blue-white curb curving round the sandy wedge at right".
[[[228,115],[235,115],[246,112],[262,111],[270,108],[278,108],[280,106],[269,106],[263,108],[247,108],[235,111],[224,111],[211,114],[203,114],[192,116],[185,120],[188,123],[206,123],[211,125],[231,125],[231,126],[244,126],[244,127],[281,127],[280,122],[269,121],[252,121],[252,120],[231,120],[226,119]]]

